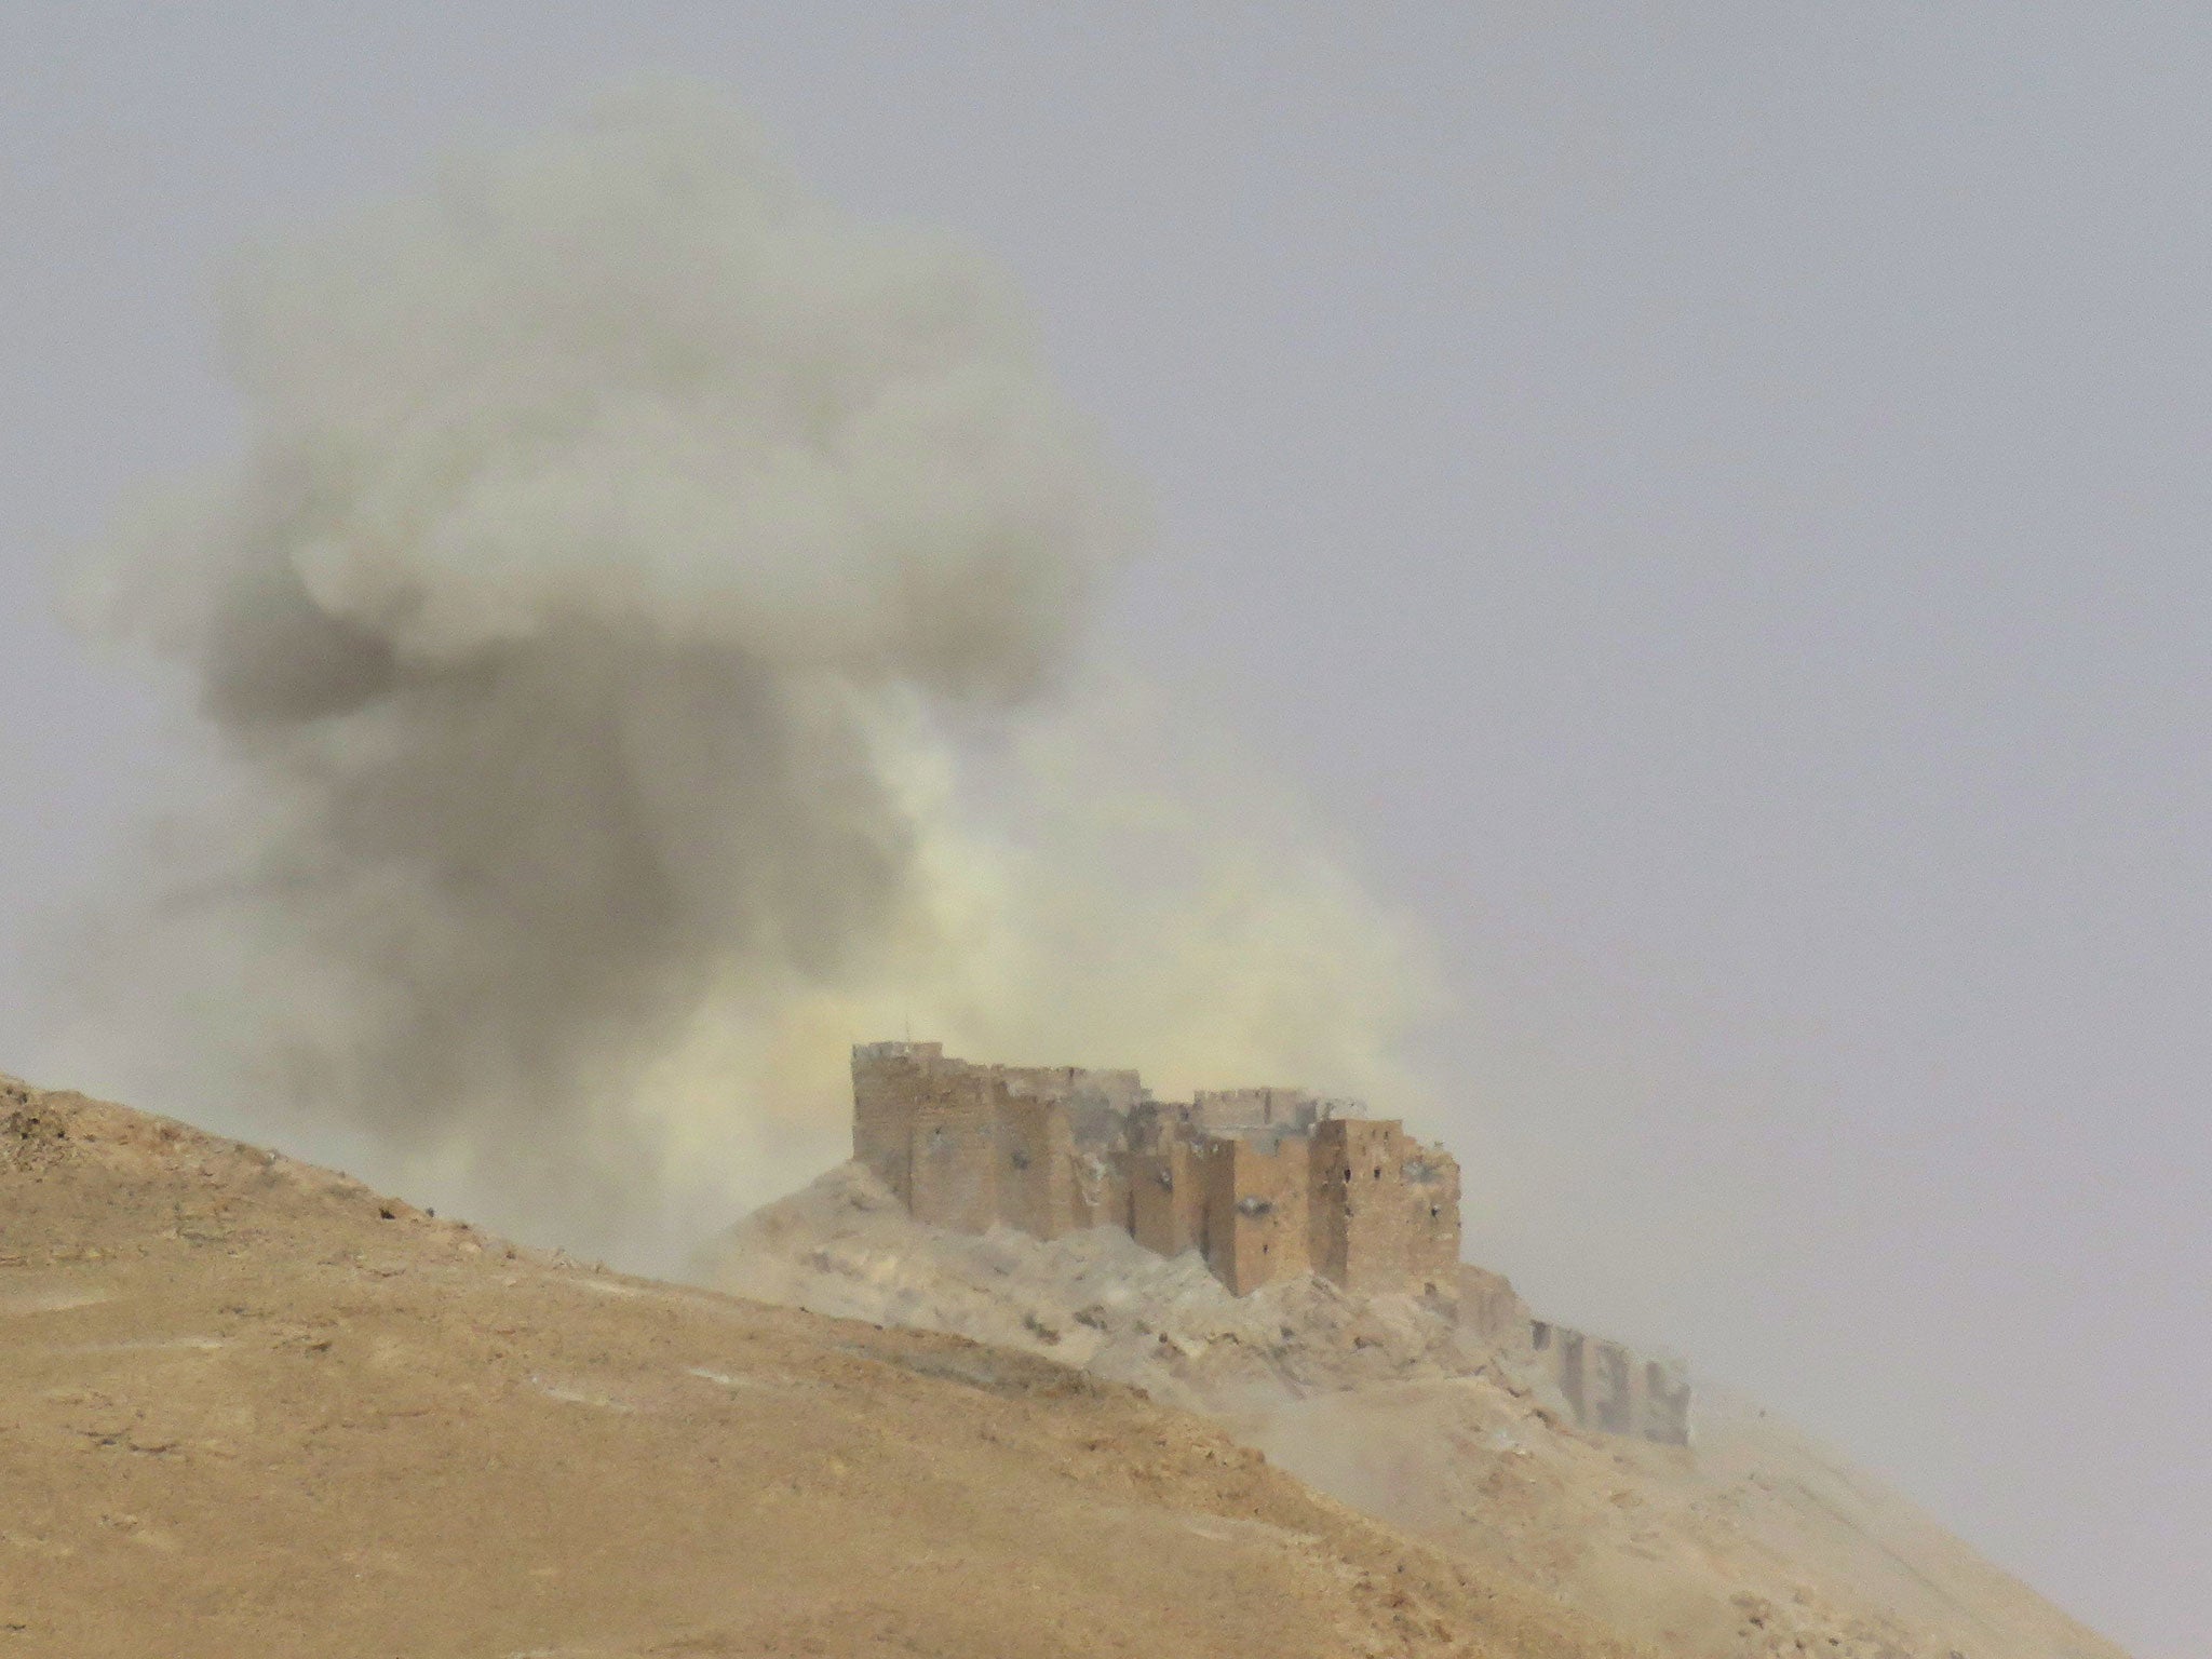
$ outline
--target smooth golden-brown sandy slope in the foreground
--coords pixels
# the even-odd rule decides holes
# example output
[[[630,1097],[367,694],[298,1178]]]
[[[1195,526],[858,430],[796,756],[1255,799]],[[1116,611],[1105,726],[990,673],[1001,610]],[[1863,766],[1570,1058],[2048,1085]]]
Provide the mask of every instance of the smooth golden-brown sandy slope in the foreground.
[[[1628,1650],[1133,1389],[0,1082],[0,1659],[31,1655]]]

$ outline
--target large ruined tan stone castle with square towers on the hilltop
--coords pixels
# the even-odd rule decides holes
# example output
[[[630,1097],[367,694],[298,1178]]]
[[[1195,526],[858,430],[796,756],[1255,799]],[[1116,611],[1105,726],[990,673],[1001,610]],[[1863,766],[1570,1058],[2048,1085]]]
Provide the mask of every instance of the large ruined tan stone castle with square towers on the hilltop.
[[[940,1228],[1113,1225],[1159,1254],[1199,1250],[1239,1296],[1305,1272],[1458,1296],[1460,1166],[1356,1102],[1155,1102],[1133,1071],[975,1066],[933,1042],[854,1048],[852,1095],[854,1157]]]

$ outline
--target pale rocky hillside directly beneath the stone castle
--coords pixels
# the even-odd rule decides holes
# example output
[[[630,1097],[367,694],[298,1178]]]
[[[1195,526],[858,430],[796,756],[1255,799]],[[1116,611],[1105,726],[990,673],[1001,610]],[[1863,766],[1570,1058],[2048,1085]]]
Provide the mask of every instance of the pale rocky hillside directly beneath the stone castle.
[[[1139,1385],[1679,1659],[2126,1659],[1756,1407],[1703,1389],[1688,1449],[1586,1433],[1531,1365],[1411,1298],[1239,1298],[1104,1228],[951,1234],[858,1166],[741,1221],[701,1276]]]

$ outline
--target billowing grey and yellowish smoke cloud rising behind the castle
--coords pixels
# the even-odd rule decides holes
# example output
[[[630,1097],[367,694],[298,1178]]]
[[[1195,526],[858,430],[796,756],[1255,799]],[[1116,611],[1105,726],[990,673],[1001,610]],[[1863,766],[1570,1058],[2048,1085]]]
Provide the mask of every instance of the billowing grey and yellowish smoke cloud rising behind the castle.
[[[228,345],[243,458],[86,580],[215,743],[75,1064],[602,1248],[834,1157],[902,1024],[1387,1086],[1398,931],[1086,668],[1133,515],[987,265],[657,91],[261,254]]]

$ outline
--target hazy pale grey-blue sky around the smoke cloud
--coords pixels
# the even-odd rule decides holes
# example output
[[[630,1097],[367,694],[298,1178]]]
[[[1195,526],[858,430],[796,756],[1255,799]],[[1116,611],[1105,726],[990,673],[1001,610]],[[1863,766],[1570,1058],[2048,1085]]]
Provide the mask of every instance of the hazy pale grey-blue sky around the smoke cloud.
[[[2203,7],[11,0],[0,1068],[164,754],[46,571],[237,442],[221,261],[655,69],[1015,272],[1108,648],[1449,953],[1473,1254],[2203,1652]]]

